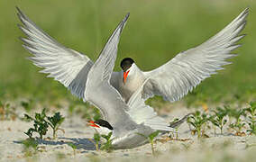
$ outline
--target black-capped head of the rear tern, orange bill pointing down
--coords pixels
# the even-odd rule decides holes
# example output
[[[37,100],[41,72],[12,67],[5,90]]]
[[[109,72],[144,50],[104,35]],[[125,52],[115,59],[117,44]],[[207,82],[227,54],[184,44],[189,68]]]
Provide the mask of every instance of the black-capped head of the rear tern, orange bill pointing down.
[[[120,67],[123,69],[123,84],[125,84],[128,74],[133,74],[133,70],[136,65],[133,58],[123,58]]]

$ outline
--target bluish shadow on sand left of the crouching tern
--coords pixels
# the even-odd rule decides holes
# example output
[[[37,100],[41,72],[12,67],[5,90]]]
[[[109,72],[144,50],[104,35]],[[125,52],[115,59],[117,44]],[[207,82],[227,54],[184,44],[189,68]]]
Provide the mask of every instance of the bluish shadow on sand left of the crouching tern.
[[[39,145],[75,145],[77,149],[84,150],[96,150],[93,139],[83,139],[83,138],[59,138],[58,140],[49,140],[49,139],[35,139]],[[14,143],[23,144],[23,140],[14,140]]]

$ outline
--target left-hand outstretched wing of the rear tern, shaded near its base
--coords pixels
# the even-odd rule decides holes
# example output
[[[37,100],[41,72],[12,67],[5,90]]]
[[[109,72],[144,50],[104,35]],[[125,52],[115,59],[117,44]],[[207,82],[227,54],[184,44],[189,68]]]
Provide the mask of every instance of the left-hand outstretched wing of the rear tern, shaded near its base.
[[[34,65],[44,68],[41,73],[50,74],[49,77],[54,77],[68,87],[72,94],[85,100],[87,73],[93,62],[86,55],[61,45],[42,31],[19,8],[17,10],[18,17],[23,23],[23,26],[18,26],[27,36],[21,39],[24,42],[23,47],[33,55],[29,59]]]

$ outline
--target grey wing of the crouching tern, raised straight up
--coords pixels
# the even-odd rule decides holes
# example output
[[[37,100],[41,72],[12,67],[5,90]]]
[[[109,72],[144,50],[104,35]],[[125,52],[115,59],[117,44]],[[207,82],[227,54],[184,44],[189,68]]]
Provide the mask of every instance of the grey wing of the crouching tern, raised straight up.
[[[113,127],[122,124],[123,119],[129,119],[124,109],[128,109],[122,96],[110,85],[110,77],[114,68],[117,46],[123,27],[129,17],[127,14],[111,35],[99,58],[88,73],[87,101],[94,104],[102,113],[104,119]]]

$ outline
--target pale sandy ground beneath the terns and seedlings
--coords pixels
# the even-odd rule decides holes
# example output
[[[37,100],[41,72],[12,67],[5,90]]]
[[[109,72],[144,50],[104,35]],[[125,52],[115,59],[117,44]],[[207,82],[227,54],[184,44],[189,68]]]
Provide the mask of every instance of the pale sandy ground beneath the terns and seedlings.
[[[189,111],[179,108],[165,116],[167,121],[173,117],[182,117]],[[24,112],[19,112],[23,116]],[[32,127],[32,122],[21,120],[0,121],[0,160],[1,161],[253,161],[256,159],[256,137],[233,136],[231,133],[215,135],[209,130],[210,138],[199,140],[192,136],[187,123],[178,129],[180,140],[157,140],[157,155],[151,155],[151,145],[139,148],[114,150],[111,153],[96,151],[95,145],[89,140],[94,130],[86,126],[86,121],[78,116],[67,117],[61,128],[65,134],[58,132],[58,139],[43,139],[40,150],[32,157],[25,156],[21,140],[27,136],[23,131]],[[207,131],[206,131],[207,132]],[[224,129],[225,132],[225,129]],[[47,134],[51,137],[51,131]],[[46,137],[47,137],[46,136]],[[160,137],[159,139],[163,139]],[[68,145],[69,142],[78,146],[76,153]]]

